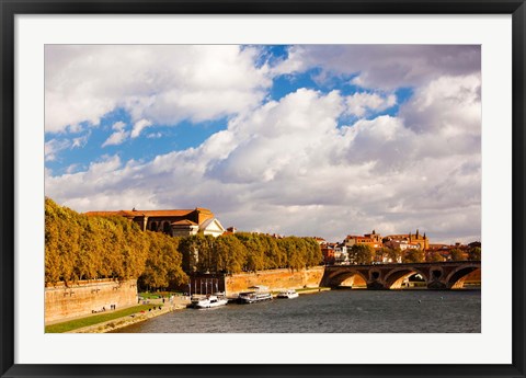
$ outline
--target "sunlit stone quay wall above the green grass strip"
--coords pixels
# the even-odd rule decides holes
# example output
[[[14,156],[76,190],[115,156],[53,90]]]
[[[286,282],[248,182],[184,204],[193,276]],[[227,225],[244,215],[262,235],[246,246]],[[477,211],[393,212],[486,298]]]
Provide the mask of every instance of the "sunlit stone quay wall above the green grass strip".
[[[92,279],[57,283],[45,289],[45,322],[91,314],[92,311],[137,305],[137,280]]]

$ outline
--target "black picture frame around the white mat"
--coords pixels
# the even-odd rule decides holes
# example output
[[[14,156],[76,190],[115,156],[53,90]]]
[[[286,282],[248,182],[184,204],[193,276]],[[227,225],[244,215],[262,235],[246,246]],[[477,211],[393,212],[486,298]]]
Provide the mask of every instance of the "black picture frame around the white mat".
[[[524,0],[0,0],[2,377],[525,377],[525,18]],[[21,365],[14,364],[14,18],[16,14],[512,14],[513,339],[510,365]],[[499,347],[499,345],[495,345]]]

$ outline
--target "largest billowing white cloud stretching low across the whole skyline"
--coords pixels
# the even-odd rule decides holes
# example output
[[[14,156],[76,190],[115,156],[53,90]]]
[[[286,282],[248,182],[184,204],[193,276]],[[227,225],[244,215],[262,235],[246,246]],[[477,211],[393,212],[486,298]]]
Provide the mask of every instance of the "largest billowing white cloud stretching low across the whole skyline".
[[[418,92],[404,114],[427,94]],[[146,163],[107,157],[48,176],[46,193],[78,210],[208,207],[243,230],[334,241],[415,228],[435,242],[479,238],[480,145],[437,153],[450,146],[448,133],[393,116],[338,128],[346,100],[301,89],[232,118],[198,148]]]

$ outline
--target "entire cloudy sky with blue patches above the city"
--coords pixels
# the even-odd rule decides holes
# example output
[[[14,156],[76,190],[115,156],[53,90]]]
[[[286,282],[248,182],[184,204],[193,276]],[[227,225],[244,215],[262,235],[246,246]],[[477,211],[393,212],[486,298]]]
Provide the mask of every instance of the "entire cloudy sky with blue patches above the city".
[[[77,211],[481,239],[471,45],[46,45],[45,191]]]

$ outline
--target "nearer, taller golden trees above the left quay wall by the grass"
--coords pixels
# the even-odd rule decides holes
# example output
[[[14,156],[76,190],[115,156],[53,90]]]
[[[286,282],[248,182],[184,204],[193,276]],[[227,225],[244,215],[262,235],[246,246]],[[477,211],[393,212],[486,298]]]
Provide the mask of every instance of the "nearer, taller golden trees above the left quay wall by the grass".
[[[45,280],[138,278],[150,287],[186,282],[178,240],[122,217],[89,217],[45,203]]]

